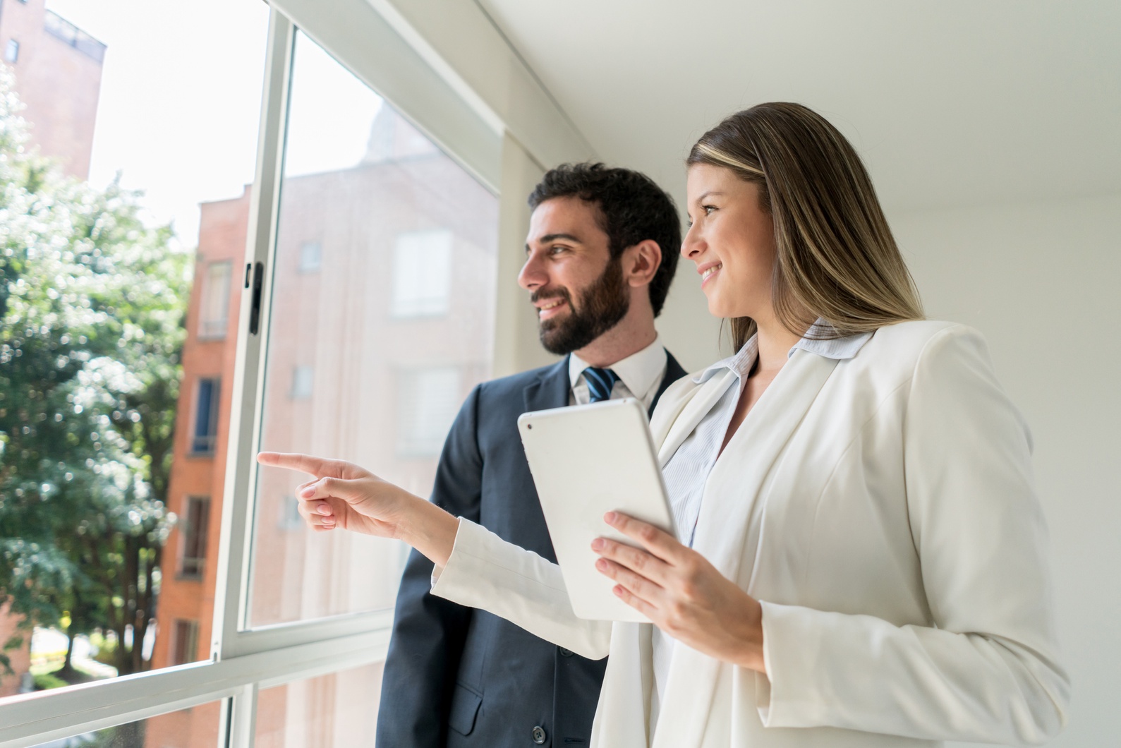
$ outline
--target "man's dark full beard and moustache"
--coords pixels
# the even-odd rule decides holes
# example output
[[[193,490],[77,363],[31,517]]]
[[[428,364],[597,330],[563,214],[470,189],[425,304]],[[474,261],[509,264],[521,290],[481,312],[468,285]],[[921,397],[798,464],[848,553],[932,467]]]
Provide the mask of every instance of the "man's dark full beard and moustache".
[[[572,303],[567,288],[534,294],[530,301],[538,302],[543,298],[563,298],[568,303],[568,314],[560,320],[541,321],[541,345],[557,355],[578,351],[627,316],[630,295],[623,281],[622,257],[608,260],[608,267],[600,277],[581,293],[578,308]]]

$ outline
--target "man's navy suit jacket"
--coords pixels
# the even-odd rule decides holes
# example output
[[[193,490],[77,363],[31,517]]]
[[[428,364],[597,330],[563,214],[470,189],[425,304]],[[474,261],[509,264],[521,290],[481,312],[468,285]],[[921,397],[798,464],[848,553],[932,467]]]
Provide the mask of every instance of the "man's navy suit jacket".
[[[684,376],[669,355],[655,404]],[[567,406],[569,389],[567,357],[475,387],[444,444],[433,502],[556,562],[518,416]],[[606,659],[429,594],[432,572],[414,551],[397,594],[378,748],[587,745]]]

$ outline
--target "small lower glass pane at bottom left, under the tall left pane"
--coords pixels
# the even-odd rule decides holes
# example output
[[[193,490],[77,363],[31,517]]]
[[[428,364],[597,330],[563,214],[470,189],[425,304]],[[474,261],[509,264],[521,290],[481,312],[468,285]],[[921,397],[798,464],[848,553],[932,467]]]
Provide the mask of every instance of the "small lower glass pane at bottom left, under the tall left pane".
[[[217,745],[221,709],[221,701],[212,701],[96,732],[43,742],[35,748],[214,748]]]

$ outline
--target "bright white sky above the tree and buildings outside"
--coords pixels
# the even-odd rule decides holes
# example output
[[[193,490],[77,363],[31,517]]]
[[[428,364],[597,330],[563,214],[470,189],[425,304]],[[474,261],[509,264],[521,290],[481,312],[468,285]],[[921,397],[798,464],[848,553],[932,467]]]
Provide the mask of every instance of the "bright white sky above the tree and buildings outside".
[[[261,0],[47,0],[108,45],[90,182],[141,188],[194,247],[198,203],[253,181],[268,36]],[[351,166],[381,100],[300,35],[287,174]]]

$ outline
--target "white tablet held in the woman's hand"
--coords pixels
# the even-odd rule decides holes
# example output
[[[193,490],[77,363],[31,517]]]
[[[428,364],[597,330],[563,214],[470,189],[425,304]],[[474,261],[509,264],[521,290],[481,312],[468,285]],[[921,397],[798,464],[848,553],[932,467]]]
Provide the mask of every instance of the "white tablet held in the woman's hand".
[[[518,432],[573,612],[648,624],[614,595],[614,582],[595,570],[600,556],[592,551],[597,537],[634,545],[603,521],[611,510],[674,534],[642,404],[626,398],[535,410],[518,418]]]

